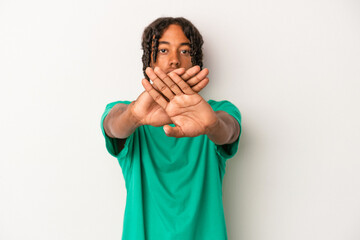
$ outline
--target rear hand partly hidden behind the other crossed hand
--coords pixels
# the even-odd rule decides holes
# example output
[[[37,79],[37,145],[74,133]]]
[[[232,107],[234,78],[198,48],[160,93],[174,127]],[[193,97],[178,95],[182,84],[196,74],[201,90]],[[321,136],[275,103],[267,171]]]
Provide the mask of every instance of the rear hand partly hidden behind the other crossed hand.
[[[185,71],[184,68],[179,68],[171,73],[177,76],[181,75],[181,78],[186,81],[195,92],[201,91],[209,82],[207,78],[209,71],[206,68],[200,71],[199,66],[191,67],[187,71]],[[143,81],[147,80],[144,79]],[[147,91],[142,92],[131,104],[131,112],[137,120],[138,125],[158,127],[172,123],[164,109],[154,101]]]

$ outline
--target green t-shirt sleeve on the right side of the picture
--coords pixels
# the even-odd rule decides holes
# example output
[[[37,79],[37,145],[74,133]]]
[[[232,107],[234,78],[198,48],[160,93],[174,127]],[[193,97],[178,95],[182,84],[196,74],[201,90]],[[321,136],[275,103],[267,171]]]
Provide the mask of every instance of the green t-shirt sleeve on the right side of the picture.
[[[239,123],[239,126],[240,126],[240,134],[235,142],[230,143],[230,144],[224,144],[224,145],[215,144],[216,152],[218,153],[218,155],[223,160],[226,160],[226,159],[233,157],[238,150],[240,135],[241,135],[241,113],[240,113],[239,109],[229,101],[215,102],[215,101],[210,100],[209,103],[212,106],[214,111],[224,111],[224,112],[227,112],[228,114],[230,114],[232,117],[234,117],[236,119],[236,121]]]

